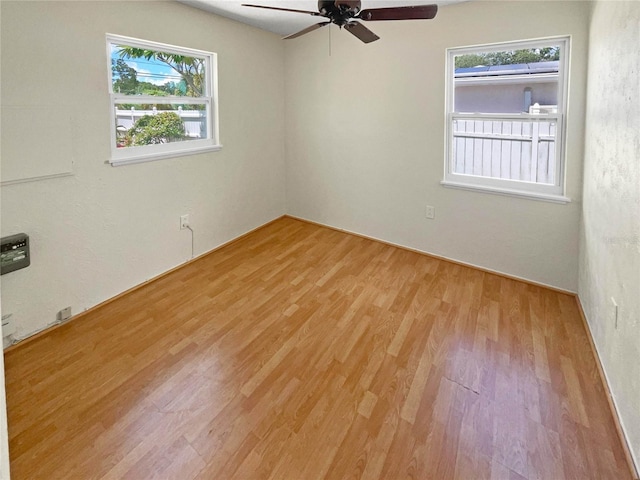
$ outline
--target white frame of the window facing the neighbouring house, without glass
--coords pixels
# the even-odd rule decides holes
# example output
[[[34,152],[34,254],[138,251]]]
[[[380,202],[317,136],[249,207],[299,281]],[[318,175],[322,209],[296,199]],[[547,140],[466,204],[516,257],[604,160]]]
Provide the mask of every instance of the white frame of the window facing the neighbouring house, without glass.
[[[520,50],[538,47],[560,46],[558,68],[558,112],[549,114],[518,113],[460,113],[454,111],[455,101],[455,57],[465,54]],[[445,187],[465,190],[510,195],[522,198],[533,198],[557,203],[568,203],[566,188],[566,116],[569,92],[571,36],[553,36],[528,40],[497,42],[446,49],[445,79],[445,159],[444,177],[440,182]],[[455,173],[454,169],[454,126],[456,119],[518,119],[518,120],[553,120],[557,122],[555,137],[555,183],[502,179],[497,177]]]

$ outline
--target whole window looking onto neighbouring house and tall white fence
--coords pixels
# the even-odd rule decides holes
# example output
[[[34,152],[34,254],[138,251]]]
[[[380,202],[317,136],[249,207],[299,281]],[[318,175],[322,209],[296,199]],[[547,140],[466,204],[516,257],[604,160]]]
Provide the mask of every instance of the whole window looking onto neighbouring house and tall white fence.
[[[448,49],[442,184],[568,202],[568,59],[568,37]]]

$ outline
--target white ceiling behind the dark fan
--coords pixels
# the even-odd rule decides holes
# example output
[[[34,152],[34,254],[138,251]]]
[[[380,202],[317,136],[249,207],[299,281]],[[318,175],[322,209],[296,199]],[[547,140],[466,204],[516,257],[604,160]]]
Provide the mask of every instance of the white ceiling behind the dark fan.
[[[314,23],[317,17],[302,13],[290,13],[262,8],[243,7],[243,3],[266,5],[270,7],[293,8],[297,10],[318,11],[316,0],[178,0],[191,7],[212,12],[223,17],[237,20],[254,27],[262,28],[280,35],[298,32]],[[397,7],[409,5],[429,5],[437,3],[439,6],[460,3],[467,0],[362,0],[362,8]],[[437,17],[436,17],[437,18]]]

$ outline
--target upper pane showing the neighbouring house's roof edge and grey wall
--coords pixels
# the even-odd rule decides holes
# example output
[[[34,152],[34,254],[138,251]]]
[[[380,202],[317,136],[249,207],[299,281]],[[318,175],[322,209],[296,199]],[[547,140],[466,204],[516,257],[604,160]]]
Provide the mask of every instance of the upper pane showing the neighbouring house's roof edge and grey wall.
[[[559,59],[559,46],[456,55],[454,111],[557,113]]]

